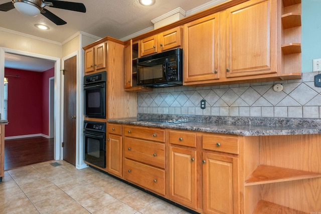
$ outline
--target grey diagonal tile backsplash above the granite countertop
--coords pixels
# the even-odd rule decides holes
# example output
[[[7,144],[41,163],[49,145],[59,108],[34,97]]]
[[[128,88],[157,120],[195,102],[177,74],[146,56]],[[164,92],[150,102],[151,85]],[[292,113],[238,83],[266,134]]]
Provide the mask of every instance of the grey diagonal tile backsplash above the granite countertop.
[[[321,72],[320,72],[321,73]],[[137,93],[137,112],[211,116],[321,118],[321,88],[314,86],[318,72],[302,79],[208,87],[177,86]],[[280,83],[281,92],[273,91]],[[201,100],[206,108],[201,109]]]

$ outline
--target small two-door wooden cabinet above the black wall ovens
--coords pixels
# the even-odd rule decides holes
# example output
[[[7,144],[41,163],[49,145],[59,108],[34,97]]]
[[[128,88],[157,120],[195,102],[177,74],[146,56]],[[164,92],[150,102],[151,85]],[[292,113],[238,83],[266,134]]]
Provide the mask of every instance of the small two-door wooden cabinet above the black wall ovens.
[[[85,72],[98,71],[106,68],[106,45],[98,44],[85,50]]]

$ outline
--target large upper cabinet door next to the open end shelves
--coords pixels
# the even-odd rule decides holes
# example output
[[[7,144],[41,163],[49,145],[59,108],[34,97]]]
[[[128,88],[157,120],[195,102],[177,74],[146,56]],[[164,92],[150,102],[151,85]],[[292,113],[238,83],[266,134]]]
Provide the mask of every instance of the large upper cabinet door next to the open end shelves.
[[[226,77],[276,73],[277,1],[249,1],[228,9]]]

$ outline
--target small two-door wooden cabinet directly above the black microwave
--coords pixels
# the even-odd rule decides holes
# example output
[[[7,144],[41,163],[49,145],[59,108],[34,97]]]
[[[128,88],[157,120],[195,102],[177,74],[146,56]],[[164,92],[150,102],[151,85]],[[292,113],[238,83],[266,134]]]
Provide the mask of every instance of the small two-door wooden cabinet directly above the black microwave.
[[[142,57],[180,47],[181,41],[181,26],[164,31],[157,35],[152,35],[140,41],[140,56]]]

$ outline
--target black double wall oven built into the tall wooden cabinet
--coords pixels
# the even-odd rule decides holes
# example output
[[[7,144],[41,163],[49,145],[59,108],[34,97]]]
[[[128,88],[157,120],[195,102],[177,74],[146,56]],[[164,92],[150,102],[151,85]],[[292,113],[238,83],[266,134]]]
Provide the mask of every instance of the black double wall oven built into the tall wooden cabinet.
[[[106,118],[106,72],[84,76],[84,114],[86,118]],[[85,120],[84,160],[106,168],[106,123]]]

